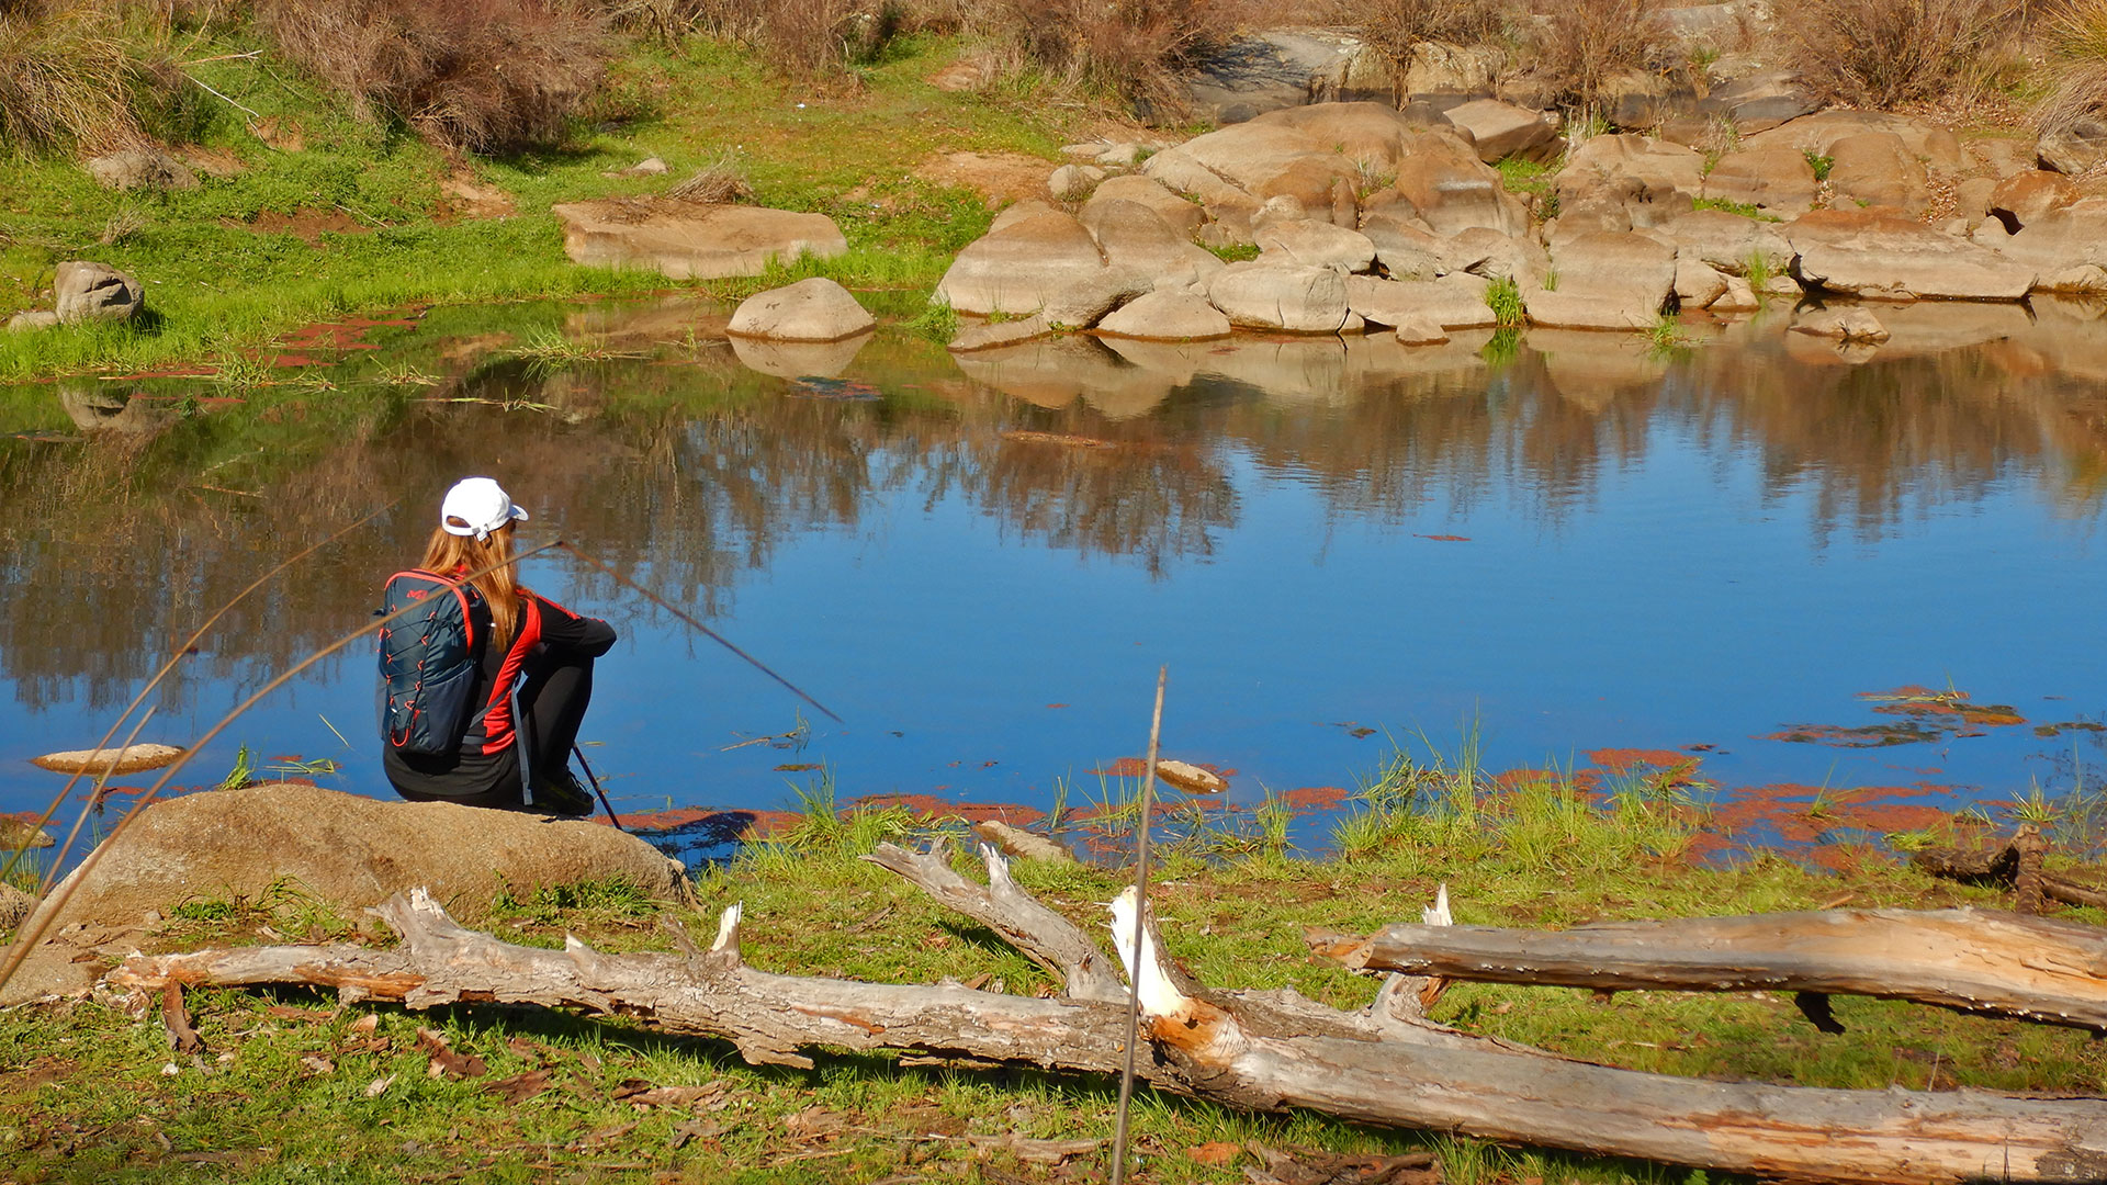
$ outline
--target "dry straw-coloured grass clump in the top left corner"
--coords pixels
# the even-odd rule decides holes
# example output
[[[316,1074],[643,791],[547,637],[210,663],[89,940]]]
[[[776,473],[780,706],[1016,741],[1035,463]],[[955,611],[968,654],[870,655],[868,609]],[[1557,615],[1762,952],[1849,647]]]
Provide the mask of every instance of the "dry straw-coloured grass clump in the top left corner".
[[[139,143],[135,61],[107,13],[0,0],[0,143],[105,152]]]

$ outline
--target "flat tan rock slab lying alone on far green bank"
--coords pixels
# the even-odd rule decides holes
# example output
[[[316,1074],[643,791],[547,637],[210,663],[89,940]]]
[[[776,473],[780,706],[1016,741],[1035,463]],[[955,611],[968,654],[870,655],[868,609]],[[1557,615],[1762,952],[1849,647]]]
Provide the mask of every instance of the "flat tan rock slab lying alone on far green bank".
[[[769,261],[830,259],[849,240],[824,213],[598,198],[552,207],[575,264],[655,270],[674,280],[759,276]]]

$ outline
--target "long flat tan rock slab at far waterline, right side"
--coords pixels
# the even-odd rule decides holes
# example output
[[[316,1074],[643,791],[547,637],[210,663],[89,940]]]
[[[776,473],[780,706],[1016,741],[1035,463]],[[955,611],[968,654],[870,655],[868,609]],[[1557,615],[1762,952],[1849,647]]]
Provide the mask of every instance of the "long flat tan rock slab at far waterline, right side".
[[[1894,209],[1814,211],[1785,228],[1808,287],[1877,299],[2021,299],[2035,270]]]

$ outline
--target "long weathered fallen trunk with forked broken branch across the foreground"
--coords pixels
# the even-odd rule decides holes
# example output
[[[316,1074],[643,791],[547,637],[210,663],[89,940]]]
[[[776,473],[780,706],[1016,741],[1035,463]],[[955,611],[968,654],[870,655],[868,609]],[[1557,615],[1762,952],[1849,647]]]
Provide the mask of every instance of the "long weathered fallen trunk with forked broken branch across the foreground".
[[[883,848],[874,860],[988,924],[1066,980],[1054,999],[771,974],[740,957],[740,909],[708,951],[603,955],[499,943],[457,926],[424,894],[377,913],[398,949],[253,947],[135,957],[110,974],[141,997],[164,985],[335,987],[411,1008],[512,1002],[632,1016],[729,1040],[752,1063],[811,1065],[799,1050],[906,1050],[976,1063],[1115,1073],[1125,999],[1098,945],[1009,883],[952,873],[942,850]],[[1435,1128],[1591,1153],[1764,1177],[1863,1183],[2107,1181],[2107,1101],[1976,1090],[1820,1090],[1700,1082],[1559,1058],[1469,1037],[1418,1016],[1395,976],[1376,1004],[1340,1012],[1294,991],[1207,991],[1165,964],[1153,930],[1136,957],[1144,1080],[1243,1109],[1306,1107],[1346,1120]]]

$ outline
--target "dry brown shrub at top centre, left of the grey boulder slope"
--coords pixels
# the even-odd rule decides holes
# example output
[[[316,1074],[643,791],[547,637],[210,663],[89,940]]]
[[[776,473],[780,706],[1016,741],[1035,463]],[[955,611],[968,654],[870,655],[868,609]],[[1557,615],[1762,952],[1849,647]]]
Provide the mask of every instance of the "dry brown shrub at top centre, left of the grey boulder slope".
[[[1256,0],[992,0],[978,19],[1062,82],[1178,110],[1178,72],[1256,15]]]

